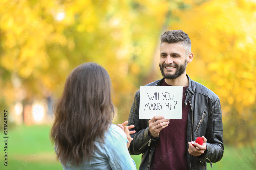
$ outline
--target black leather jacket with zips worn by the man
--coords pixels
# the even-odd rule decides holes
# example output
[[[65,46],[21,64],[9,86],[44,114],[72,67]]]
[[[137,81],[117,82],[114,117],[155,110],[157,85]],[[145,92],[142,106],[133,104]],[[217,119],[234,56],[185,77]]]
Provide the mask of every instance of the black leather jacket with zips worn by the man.
[[[190,170],[206,169],[206,162],[218,162],[224,151],[223,127],[219,97],[207,87],[189,78],[189,86],[186,93],[185,106],[190,103],[187,124],[187,142],[195,141],[198,136],[205,136],[207,149],[200,156],[192,156],[187,150],[187,163]],[[164,79],[149,83],[146,86],[161,86]],[[189,105],[188,105],[189,106]],[[149,119],[139,119],[140,90],[135,94],[131,107],[128,125],[135,125],[130,130],[136,130],[131,134],[133,138],[129,152],[131,155],[142,153],[141,169],[149,169],[152,155],[155,150],[155,141],[158,139],[148,136]],[[188,145],[187,145],[188,149]]]

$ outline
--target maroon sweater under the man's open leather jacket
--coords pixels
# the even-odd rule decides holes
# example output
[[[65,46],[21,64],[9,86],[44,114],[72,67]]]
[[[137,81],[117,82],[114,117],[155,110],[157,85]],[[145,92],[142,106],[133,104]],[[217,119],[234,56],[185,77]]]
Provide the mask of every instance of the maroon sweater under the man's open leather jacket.
[[[162,86],[169,86],[163,81]],[[185,90],[183,87],[183,102],[185,102]],[[156,148],[152,157],[150,170],[155,169],[189,169],[187,162],[187,122],[190,104],[184,107],[182,104],[182,119],[170,119],[167,127],[162,129],[156,141]]]

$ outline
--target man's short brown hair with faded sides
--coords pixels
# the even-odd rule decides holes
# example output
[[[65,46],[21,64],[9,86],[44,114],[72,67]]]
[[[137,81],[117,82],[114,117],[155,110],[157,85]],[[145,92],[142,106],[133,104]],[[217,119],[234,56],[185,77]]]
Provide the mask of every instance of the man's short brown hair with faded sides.
[[[161,43],[179,43],[182,44],[186,50],[186,56],[191,53],[191,41],[187,33],[182,30],[169,30],[165,31],[160,37]]]

